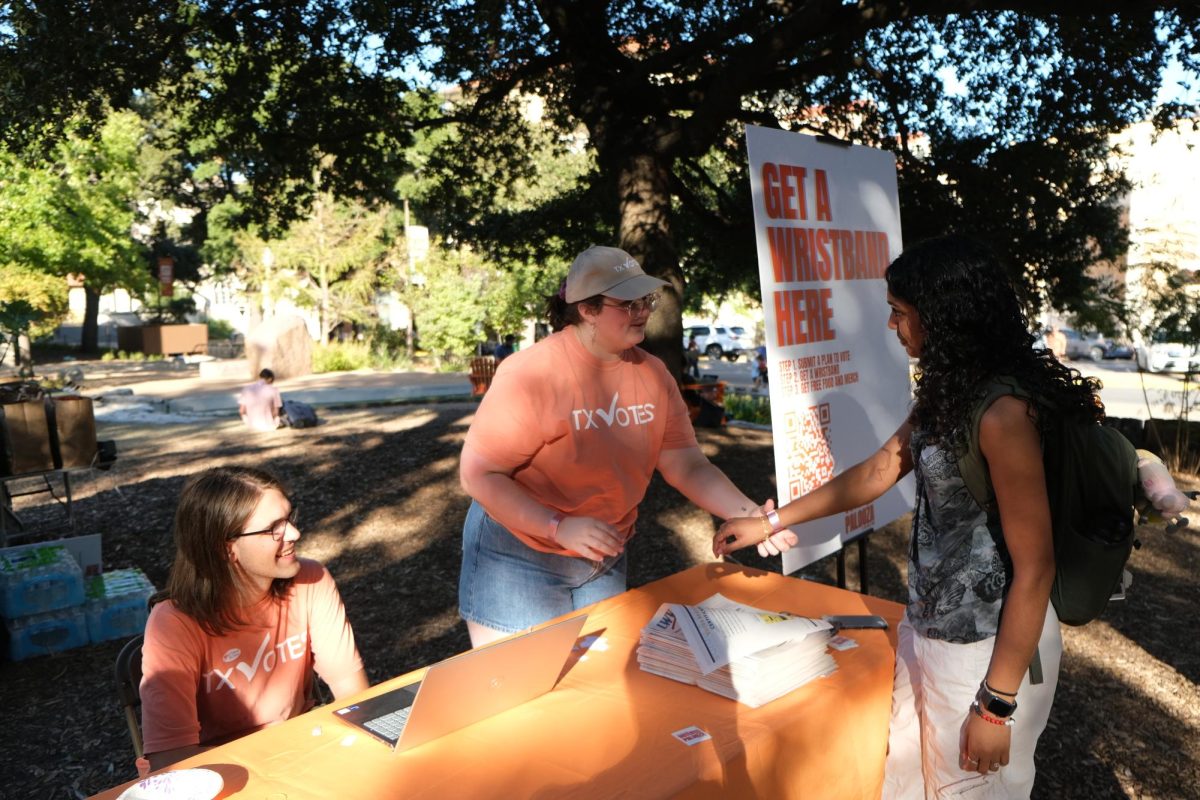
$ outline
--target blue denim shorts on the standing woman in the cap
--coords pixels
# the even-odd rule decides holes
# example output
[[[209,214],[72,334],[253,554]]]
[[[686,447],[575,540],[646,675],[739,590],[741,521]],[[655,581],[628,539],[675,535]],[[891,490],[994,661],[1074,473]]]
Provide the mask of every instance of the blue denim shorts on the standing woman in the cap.
[[[625,591],[625,552],[602,561],[526,546],[470,504],[462,527],[458,613],[514,633]]]

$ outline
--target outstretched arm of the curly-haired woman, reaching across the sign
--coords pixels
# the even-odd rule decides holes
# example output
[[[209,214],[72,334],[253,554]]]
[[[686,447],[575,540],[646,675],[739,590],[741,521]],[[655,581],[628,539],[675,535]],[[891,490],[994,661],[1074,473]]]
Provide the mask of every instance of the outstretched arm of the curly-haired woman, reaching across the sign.
[[[869,458],[782,506],[779,521],[785,530],[768,536],[770,525],[763,524],[762,516],[730,519],[713,539],[713,554],[725,555],[757,543],[761,545],[758,552],[762,555],[778,555],[794,547],[798,541],[796,534],[786,530],[786,527],[871,503],[912,471],[912,456],[908,451],[911,435],[912,425],[906,421]]]

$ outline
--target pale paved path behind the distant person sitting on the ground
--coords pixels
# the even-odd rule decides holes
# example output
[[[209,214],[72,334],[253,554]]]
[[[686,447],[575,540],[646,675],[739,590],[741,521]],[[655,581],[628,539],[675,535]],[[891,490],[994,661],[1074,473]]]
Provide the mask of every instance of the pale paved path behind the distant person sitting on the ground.
[[[121,407],[145,409],[146,405],[172,416],[238,416],[238,392],[247,383],[251,381],[245,378],[190,375],[134,380],[90,391],[84,381],[83,393],[103,398],[97,419],[110,416]],[[470,379],[463,373],[334,372],[277,380],[275,385],[284,399],[326,409],[470,398]]]

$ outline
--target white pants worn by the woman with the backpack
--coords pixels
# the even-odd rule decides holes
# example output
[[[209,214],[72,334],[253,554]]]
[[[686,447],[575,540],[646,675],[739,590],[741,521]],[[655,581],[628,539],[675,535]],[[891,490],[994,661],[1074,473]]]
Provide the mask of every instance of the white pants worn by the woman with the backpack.
[[[1054,606],[1046,609],[1038,652],[1043,682],[1018,690],[1008,766],[979,775],[959,768],[962,727],[979,681],[988,674],[996,638],[972,644],[926,639],[907,618],[896,631],[896,672],[892,693],[892,727],[884,766],[886,800],[949,798],[1028,798],[1033,790],[1033,751],[1050,717],[1062,636]]]

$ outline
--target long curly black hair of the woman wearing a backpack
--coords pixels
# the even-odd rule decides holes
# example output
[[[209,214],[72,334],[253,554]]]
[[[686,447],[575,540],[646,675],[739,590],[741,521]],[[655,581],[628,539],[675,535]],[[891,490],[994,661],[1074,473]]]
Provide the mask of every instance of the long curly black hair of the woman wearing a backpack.
[[[1033,347],[1020,299],[996,254],[961,235],[907,247],[887,270],[888,291],[917,309],[925,330],[912,420],[935,441],[962,446],[989,384],[1015,378],[1033,397],[1039,429],[1055,416],[1104,419],[1100,381]]]

